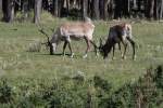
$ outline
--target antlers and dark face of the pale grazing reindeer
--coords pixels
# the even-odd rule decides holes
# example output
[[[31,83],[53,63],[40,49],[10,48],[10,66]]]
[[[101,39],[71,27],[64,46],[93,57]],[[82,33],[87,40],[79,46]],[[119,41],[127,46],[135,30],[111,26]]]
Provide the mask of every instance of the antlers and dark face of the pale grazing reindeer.
[[[45,42],[42,44],[46,44],[46,46],[50,49],[50,55],[53,55],[53,45],[50,42],[49,36],[43,31],[43,29],[39,29],[39,31],[47,37],[47,42]]]

